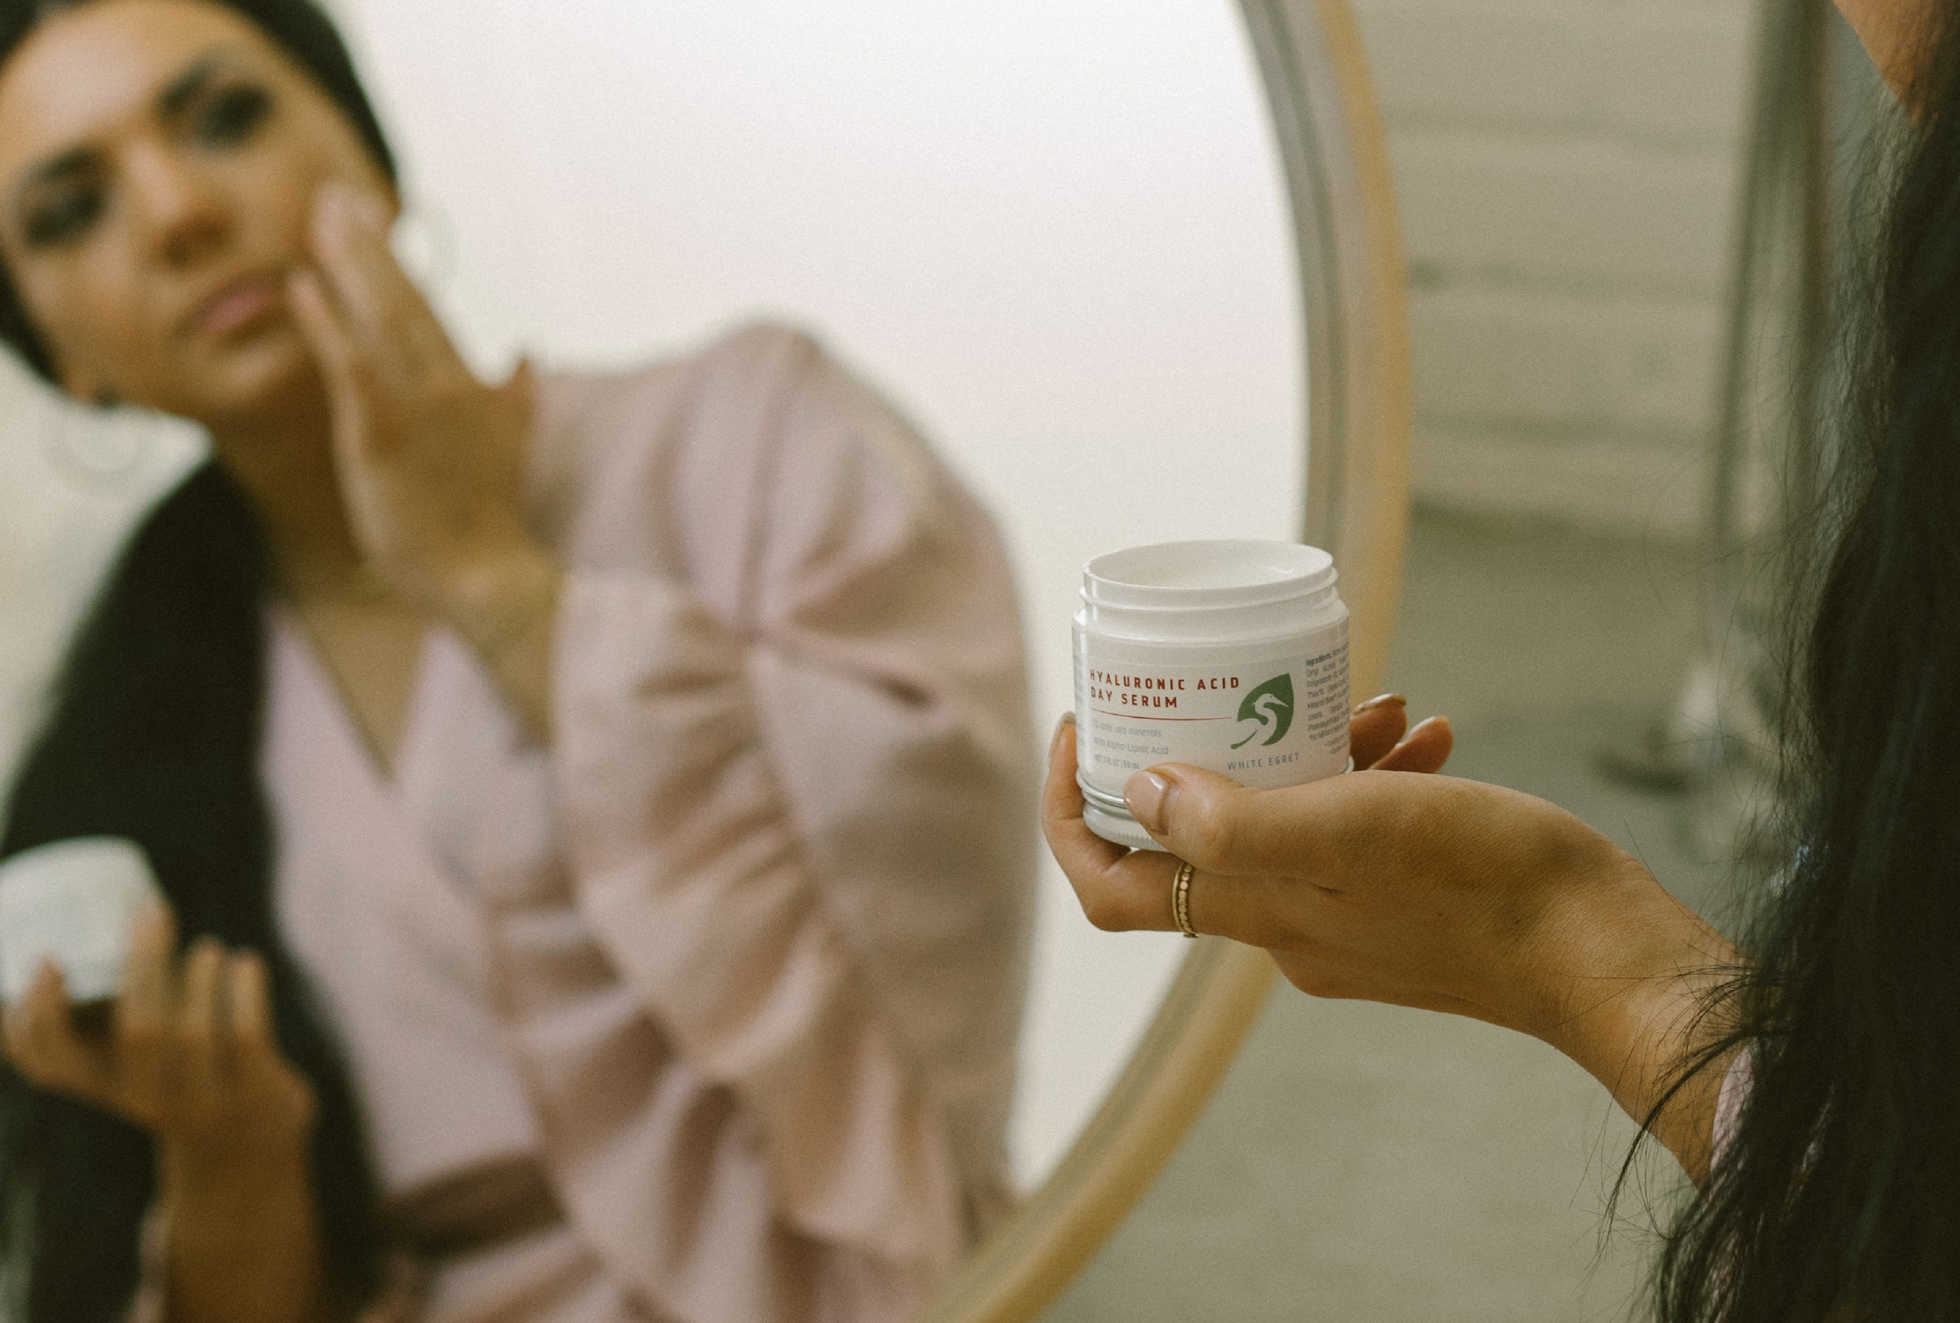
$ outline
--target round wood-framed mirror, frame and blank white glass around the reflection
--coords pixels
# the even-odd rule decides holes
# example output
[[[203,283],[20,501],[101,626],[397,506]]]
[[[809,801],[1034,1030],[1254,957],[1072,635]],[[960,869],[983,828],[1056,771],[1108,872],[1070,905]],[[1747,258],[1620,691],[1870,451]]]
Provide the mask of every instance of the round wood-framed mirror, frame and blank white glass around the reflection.
[[[1407,378],[1341,0],[329,8],[402,155],[404,261],[484,374],[519,353],[631,365],[753,318],[813,331],[998,521],[1043,729],[1070,704],[1082,563],[1147,541],[1335,549],[1354,684],[1380,680]],[[194,443],[6,392],[45,437],[4,457],[10,508],[39,512],[8,521],[0,584],[37,621],[0,676],[12,751],[116,537]],[[933,1317],[1039,1311],[1268,978],[1225,943],[1094,931],[1045,858],[1009,1135],[1031,1198]]]

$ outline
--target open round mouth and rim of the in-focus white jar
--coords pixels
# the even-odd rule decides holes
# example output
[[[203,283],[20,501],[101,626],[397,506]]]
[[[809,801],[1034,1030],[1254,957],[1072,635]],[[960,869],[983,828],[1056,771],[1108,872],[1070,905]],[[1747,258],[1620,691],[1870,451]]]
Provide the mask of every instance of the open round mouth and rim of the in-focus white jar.
[[[1335,559],[1303,543],[1156,543],[1082,566],[1082,600],[1100,608],[1215,612],[1313,596],[1333,588],[1335,578]]]

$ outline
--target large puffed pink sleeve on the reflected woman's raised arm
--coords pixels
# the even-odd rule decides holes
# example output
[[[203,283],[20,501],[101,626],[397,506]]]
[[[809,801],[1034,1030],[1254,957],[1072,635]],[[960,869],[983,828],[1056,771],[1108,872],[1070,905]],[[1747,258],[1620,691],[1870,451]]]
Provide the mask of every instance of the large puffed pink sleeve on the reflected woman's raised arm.
[[[631,382],[578,412],[551,753],[580,913],[737,1100],[715,1151],[766,1160],[774,1223],[923,1299],[1005,1188],[1039,747],[1005,557],[808,337],[684,380],[678,416]]]

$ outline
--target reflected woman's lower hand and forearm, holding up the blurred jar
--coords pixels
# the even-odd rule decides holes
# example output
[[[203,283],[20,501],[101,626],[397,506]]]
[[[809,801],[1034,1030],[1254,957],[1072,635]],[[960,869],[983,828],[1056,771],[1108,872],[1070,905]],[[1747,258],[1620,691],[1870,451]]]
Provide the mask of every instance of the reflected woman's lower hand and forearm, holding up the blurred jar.
[[[8,1056],[37,1088],[157,1139],[171,1323],[304,1323],[319,1298],[312,1090],[272,1041],[263,960],[212,939],[172,951],[159,909],[106,1033],[76,1029],[61,974],[43,968],[8,1007]]]

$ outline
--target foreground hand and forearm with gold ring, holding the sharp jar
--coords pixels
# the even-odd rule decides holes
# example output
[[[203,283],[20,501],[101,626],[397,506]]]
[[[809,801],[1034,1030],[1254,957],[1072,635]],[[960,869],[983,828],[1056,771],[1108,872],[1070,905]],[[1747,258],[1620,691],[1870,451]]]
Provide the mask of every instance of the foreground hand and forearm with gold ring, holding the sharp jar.
[[[1429,723],[1382,753],[1382,721],[1356,717],[1356,766],[1370,770],[1307,786],[1249,790],[1190,766],[1139,772],[1129,808],[1174,858],[1125,853],[1082,825],[1064,723],[1049,755],[1049,845],[1098,927],[1174,927],[1170,884],[1186,858],[1198,866],[1192,923],[1266,947],[1303,992],[1529,1033],[1646,1121],[1678,1062],[1713,1041],[1703,994],[1740,955],[1564,809],[1423,774],[1441,766]],[[1399,711],[1394,721],[1399,735]],[[1652,1115],[1695,1180],[1719,1086],[1721,1070],[1705,1070]]]

